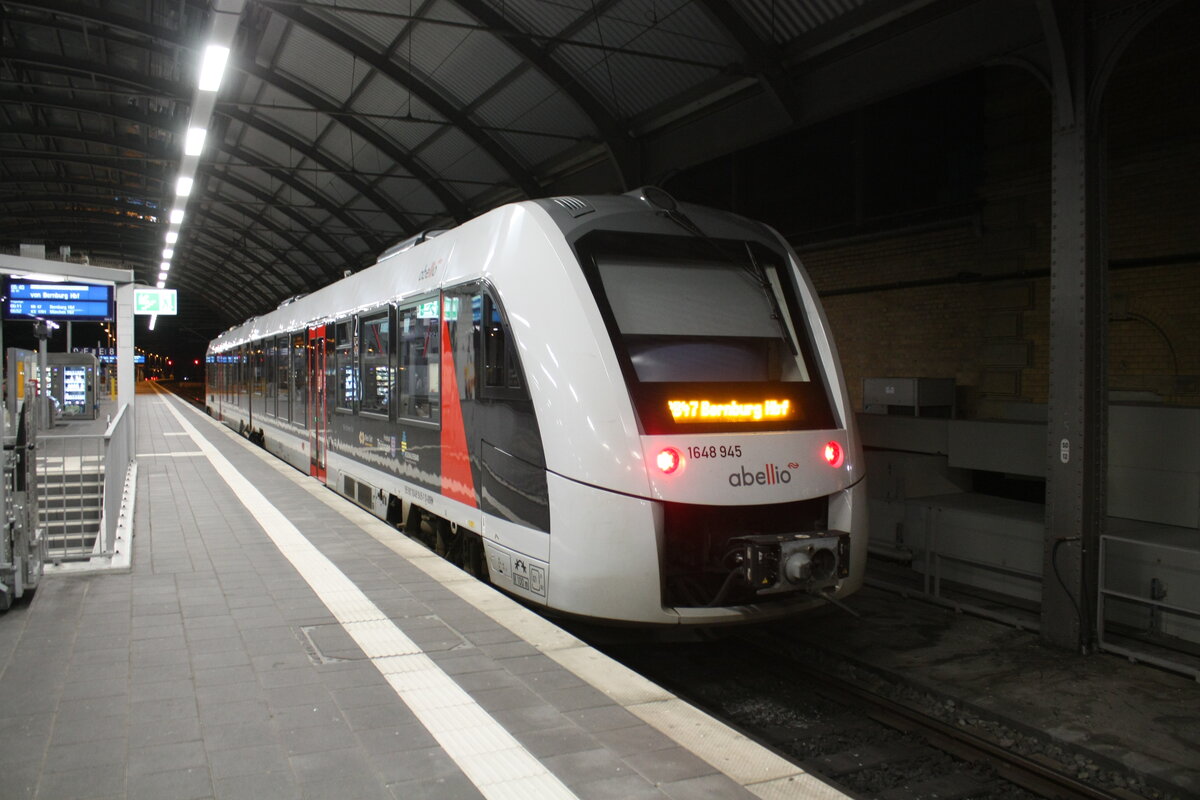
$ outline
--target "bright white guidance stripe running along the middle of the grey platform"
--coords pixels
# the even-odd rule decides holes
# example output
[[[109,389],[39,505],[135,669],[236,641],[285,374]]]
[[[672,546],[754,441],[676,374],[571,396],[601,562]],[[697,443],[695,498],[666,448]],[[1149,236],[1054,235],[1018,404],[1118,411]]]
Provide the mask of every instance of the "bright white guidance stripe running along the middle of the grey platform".
[[[576,795],[396,627],[164,397],[160,401],[212,462],[322,602],[371,658],[421,724],[490,800]]]

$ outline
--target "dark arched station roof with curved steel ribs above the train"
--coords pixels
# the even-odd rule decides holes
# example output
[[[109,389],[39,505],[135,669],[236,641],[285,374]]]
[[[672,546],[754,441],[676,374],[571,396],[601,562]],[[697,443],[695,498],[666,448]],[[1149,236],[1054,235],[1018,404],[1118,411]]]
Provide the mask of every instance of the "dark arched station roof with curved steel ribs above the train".
[[[503,203],[659,182],[1044,60],[1033,0],[4,0],[0,249],[156,283],[222,10],[232,53],[166,282],[204,338]]]

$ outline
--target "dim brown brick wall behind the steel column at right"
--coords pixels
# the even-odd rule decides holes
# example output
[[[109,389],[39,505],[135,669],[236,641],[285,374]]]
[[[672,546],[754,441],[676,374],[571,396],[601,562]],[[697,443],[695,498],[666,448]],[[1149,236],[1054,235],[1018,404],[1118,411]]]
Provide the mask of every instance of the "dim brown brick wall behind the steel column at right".
[[[1109,383],[1200,404],[1200,22],[1180,4],[1145,30],[1109,91]],[[857,408],[871,377],[956,379],[960,413],[1045,403],[1050,98],[985,72],[985,164],[973,219],[802,252]]]

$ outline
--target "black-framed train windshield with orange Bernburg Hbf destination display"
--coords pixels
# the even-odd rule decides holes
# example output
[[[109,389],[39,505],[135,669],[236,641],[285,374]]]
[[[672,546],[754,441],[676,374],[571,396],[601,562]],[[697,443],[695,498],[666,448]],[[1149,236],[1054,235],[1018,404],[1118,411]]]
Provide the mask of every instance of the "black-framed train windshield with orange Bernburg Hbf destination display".
[[[589,239],[589,282],[646,433],[833,427],[781,253],[683,236]]]

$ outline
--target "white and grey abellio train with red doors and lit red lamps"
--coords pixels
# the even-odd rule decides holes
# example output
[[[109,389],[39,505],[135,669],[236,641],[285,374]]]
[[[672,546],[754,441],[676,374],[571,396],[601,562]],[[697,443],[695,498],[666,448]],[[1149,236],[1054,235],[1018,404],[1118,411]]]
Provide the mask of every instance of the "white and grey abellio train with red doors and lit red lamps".
[[[787,243],[647,187],[385,252],[209,347],[209,411],[499,589],[718,625],[856,590],[862,447]]]

